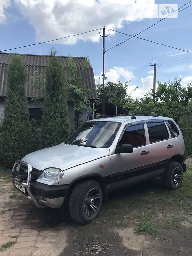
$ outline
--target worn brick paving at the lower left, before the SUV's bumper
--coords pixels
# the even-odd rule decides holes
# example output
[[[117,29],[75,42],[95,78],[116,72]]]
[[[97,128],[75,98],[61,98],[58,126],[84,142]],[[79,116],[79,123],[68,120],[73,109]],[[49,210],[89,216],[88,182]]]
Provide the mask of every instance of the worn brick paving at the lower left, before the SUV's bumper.
[[[34,204],[12,188],[9,180],[0,179],[0,248],[6,246],[0,255],[59,255],[66,247],[66,227],[42,225]]]

